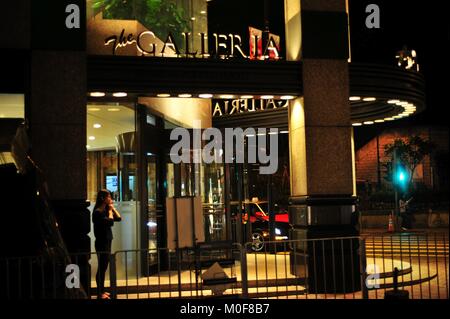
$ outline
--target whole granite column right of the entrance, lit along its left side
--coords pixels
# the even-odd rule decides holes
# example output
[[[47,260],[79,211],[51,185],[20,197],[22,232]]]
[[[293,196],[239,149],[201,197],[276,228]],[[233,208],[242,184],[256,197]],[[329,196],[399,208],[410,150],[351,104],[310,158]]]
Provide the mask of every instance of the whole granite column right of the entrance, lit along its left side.
[[[300,44],[303,67],[303,97],[292,101],[289,109],[292,239],[355,236],[358,233],[352,225],[355,197],[346,1],[302,0],[298,16],[301,40],[297,39],[296,43]],[[289,25],[295,23],[290,21]],[[287,27],[289,25],[287,23]],[[290,55],[296,56],[295,52]],[[296,256],[299,262],[293,272],[301,275],[305,270],[301,266],[309,267],[310,291],[331,292],[334,288],[339,291],[344,290],[343,286],[346,291],[356,290],[358,241],[352,241],[351,251],[348,242],[343,250],[331,242],[323,247],[321,242],[317,244],[315,248],[308,246],[307,256]],[[328,245],[335,246],[334,250]],[[344,258],[339,257],[342,253]],[[322,258],[334,254],[334,261]],[[334,262],[345,263],[344,269],[336,268]],[[330,274],[331,268],[340,276],[344,272],[345,282],[342,277],[326,279],[322,276]],[[354,287],[349,285],[352,276],[357,283]],[[334,287],[335,281],[337,287]]]

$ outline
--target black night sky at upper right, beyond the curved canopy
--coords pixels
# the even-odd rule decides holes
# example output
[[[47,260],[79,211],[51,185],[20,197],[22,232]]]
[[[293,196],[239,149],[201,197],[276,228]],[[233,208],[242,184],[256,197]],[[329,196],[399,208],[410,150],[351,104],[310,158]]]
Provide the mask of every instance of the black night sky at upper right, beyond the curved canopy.
[[[355,129],[357,144],[386,127],[407,125],[447,125],[449,18],[448,1],[349,0],[352,58],[355,62],[395,65],[395,53],[407,45],[417,51],[420,70],[426,81],[426,111],[409,119]],[[381,28],[367,29],[365,8],[377,4]],[[359,142],[359,143],[358,143]]]

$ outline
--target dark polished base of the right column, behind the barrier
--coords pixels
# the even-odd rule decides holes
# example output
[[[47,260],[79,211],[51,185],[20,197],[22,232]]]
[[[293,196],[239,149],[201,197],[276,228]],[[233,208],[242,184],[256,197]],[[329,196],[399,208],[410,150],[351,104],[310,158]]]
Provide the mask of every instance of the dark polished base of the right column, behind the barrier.
[[[290,199],[291,239],[296,242],[291,273],[306,279],[309,293],[361,290],[356,200],[353,196]]]

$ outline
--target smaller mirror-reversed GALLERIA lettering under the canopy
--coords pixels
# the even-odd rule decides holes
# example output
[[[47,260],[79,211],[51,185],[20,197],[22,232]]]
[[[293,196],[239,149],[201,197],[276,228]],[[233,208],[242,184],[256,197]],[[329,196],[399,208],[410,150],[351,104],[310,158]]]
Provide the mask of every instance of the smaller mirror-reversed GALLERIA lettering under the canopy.
[[[289,105],[287,100],[213,100],[213,117],[234,115],[248,112],[259,112],[284,108]]]

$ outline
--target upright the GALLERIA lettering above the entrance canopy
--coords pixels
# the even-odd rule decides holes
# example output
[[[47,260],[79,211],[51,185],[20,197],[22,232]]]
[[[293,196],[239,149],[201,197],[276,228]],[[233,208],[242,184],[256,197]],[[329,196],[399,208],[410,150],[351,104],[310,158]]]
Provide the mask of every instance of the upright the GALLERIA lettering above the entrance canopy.
[[[190,42],[193,35],[190,32],[182,33],[184,38],[181,50],[179,43],[176,43],[172,33],[169,33],[165,41],[159,44],[157,37],[152,31],[144,31],[137,35],[126,32],[122,29],[119,35],[112,35],[105,39],[104,45],[111,46],[112,54],[115,55],[120,48],[135,45],[142,56],[166,57],[176,55],[177,57],[208,58],[216,57],[221,59],[242,58],[251,60],[278,60],[280,58],[280,37],[267,32],[249,28],[248,55],[242,48],[242,38],[237,34],[217,34],[214,33],[214,45],[211,50],[207,50],[207,35],[199,33],[199,48],[191,48]]]

